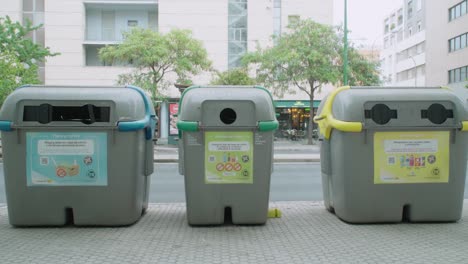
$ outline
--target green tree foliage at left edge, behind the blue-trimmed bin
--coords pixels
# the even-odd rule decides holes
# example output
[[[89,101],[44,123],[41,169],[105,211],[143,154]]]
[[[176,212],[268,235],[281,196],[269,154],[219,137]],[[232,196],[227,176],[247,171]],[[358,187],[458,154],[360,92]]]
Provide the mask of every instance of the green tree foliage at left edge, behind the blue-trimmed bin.
[[[23,26],[8,16],[0,17],[0,104],[16,87],[40,83],[37,63],[58,55],[28,38],[40,27],[30,21]]]

